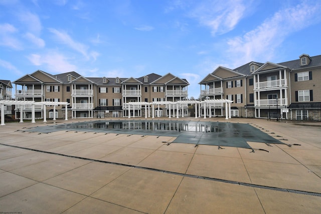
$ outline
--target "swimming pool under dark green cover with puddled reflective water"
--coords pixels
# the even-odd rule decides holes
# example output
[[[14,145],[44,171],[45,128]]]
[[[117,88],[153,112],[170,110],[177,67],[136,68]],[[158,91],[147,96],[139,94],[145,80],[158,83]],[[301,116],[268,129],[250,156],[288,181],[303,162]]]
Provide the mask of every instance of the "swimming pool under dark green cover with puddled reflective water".
[[[251,148],[247,141],[284,144],[250,124],[173,120],[96,120],[39,126],[31,132],[103,132],[127,135],[172,136],[172,143]]]

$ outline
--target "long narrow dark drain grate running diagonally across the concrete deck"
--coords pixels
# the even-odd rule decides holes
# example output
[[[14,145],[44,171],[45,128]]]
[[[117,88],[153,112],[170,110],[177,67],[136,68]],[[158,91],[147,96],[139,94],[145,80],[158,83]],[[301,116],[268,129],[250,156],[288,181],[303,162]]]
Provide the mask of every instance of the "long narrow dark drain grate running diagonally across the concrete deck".
[[[184,177],[192,177],[192,178],[196,178],[196,179],[211,180],[211,181],[216,181],[216,182],[237,184],[237,185],[241,185],[241,186],[249,186],[249,187],[253,187],[253,188],[269,189],[269,190],[275,190],[275,191],[291,192],[291,193],[296,193],[296,194],[304,194],[304,195],[312,195],[312,196],[321,197],[321,193],[319,193],[319,192],[309,192],[309,191],[301,191],[301,190],[296,190],[296,189],[278,188],[278,187],[273,187],[273,186],[264,186],[264,185],[258,185],[258,184],[253,184],[253,183],[238,182],[238,181],[234,181],[234,180],[225,180],[225,179],[219,179],[219,178],[213,178],[213,177],[205,177],[205,176],[199,176],[199,175],[193,175],[193,174],[167,171],[167,170],[162,170],[162,169],[148,168],[148,167],[143,167],[143,166],[135,166],[135,165],[124,164],[124,163],[117,163],[117,162],[96,160],[96,159],[85,158],[85,157],[72,156],[72,155],[67,155],[67,154],[60,154],[60,153],[43,151],[43,150],[32,149],[32,148],[26,148],[26,147],[21,147],[21,146],[8,145],[8,144],[4,144],[4,143],[0,143],[0,145],[10,146],[10,147],[15,147],[15,148],[20,148],[20,149],[26,149],[26,150],[36,151],[36,152],[42,152],[42,153],[47,153],[47,154],[54,154],[54,155],[60,155],[60,156],[65,156],[65,157],[77,158],[77,159],[82,159],[82,160],[89,160],[89,161],[100,162],[100,163],[126,166],[126,167],[138,168],[138,169],[143,169],[143,170],[150,170],[150,171],[155,171],[155,172],[163,172],[163,173],[168,173],[168,174],[180,175],[180,176],[184,176]]]

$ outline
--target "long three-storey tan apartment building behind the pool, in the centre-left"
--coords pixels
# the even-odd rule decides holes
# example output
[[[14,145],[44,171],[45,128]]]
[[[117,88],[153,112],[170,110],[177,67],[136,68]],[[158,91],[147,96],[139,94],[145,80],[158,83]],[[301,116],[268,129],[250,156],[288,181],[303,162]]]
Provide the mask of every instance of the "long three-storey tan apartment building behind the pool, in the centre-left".
[[[131,116],[141,116],[145,106],[135,105],[128,111],[127,103],[187,99],[189,85],[187,80],[170,73],[164,76],[152,73],[139,78],[92,78],[76,72],[52,75],[41,70],[13,83],[16,84],[16,100],[68,102],[68,114],[72,118],[126,117],[129,112]],[[64,108],[56,107],[55,118],[62,117],[59,110]],[[167,115],[167,109],[162,105],[155,113]],[[181,114],[186,113],[182,109]],[[49,118],[53,118],[53,107],[46,107],[46,110]],[[26,105],[23,111],[25,118],[31,118],[31,106]],[[41,119],[43,116],[43,105],[35,105],[35,117]]]

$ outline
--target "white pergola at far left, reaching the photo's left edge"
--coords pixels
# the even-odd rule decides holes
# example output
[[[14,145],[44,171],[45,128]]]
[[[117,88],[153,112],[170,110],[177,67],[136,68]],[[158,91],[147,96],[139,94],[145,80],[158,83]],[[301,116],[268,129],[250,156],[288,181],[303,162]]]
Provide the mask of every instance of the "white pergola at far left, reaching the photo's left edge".
[[[51,105],[54,106],[54,114],[53,114],[53,120],[56,120],[56,106],[58,105],[65,105],[65,120],[67,119],[67,106],[69,105],[68,102],[35,102],[35,101],[23,101],[23,100],[0,100],[1,104],[1,125],[5,124],[5,105],[20,105],[20,122],[23,123],[23,111],[22,106],[24,105],[31,105],[31,122],[35,123],[35,105],[43,105],[44,106],[44,122],[47,122],[47,116],[46,116],[46,106]]]

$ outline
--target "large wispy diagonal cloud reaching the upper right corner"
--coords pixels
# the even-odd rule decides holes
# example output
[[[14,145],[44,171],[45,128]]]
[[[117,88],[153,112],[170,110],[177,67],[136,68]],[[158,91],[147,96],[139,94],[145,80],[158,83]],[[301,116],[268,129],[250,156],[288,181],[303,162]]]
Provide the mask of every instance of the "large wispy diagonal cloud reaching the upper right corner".
[[[319,3],[306,2],[280,10],[256,29],[229,39],[227,55],[234,59],[234,66],[261,58],[269,61],[288,35],[319,22],[320,10]]]

